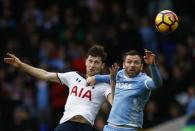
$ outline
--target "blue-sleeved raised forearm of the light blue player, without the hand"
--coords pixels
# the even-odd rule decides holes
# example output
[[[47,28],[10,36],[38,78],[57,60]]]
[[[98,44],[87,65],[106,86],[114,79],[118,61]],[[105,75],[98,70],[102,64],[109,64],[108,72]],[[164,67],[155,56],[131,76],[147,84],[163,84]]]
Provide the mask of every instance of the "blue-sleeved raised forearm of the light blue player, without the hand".
[[[161,87],[163,81],[162,81],[160,71],[159,71],[158,67],[156,66],[156,64],[149,65],[149,69],[150,69],[151,77],[154,81],[155,86]]]

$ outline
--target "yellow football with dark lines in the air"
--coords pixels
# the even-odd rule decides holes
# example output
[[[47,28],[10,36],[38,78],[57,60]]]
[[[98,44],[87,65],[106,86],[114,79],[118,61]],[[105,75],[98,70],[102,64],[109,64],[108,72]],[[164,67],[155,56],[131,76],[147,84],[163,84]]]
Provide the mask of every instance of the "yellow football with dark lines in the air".
[[[155,18],[155,26],[159,32],[173,32],[179,25],[177,15],[170,10],[159,12]]]

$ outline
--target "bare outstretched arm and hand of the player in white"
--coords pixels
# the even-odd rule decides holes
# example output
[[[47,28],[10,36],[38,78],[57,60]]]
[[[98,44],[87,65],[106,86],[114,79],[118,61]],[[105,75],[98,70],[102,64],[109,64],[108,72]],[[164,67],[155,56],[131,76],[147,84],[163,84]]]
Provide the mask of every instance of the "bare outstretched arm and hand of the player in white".
[[[56,73],[47,72],[43,69],[32,67],[26,63],[23,63],[19,58],[17,58],[14,54],[7,53],[7,56],[4,58],[4,62],[12,65],[15,68],[21,69],[24,72],[42,80],[58,82],[60,80],[57,77]]]

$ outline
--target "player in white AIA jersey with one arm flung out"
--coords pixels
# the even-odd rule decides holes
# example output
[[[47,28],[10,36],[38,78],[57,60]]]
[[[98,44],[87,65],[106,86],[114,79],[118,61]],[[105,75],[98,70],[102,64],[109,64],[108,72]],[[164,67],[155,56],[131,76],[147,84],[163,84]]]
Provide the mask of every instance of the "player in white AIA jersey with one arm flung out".
[[[107,54],[100,45],[94,45],[86,55],[86,77],[100,74],[104,68]],[[86,86],[86,78],[72,71],[66,73],[48,72],[23,63],[14,54],[7,53],[5,63],[22,69],[24,72],[42,80],[65,84],[69,88],[69,96],[63,116],[55,131],[92,131],[95,117],[101,104],[107,99],[112,104],[110,85],[98,83]]]

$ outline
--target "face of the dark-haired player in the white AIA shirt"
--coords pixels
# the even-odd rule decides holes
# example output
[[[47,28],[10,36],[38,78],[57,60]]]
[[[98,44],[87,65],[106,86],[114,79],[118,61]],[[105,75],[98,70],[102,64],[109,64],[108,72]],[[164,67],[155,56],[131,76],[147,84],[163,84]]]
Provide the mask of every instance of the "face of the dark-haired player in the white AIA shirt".
[[[99,74],[104,68],[104,63],[102,63],[101,57],[88,56],[85,62],[87,76],[93,76]]]

